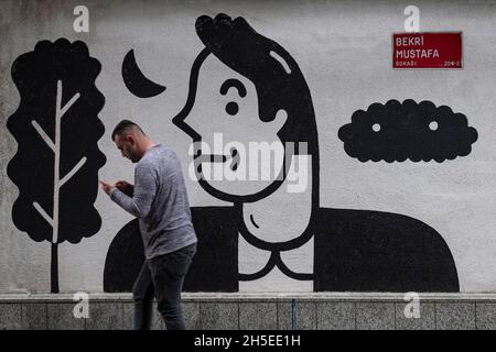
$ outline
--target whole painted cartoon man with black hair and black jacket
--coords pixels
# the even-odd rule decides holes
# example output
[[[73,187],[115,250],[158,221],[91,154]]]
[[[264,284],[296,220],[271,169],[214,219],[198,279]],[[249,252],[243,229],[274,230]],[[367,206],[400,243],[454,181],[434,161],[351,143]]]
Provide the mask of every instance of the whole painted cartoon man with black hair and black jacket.
[[[450,249],[428,224],[396,213],[320,207],[313,102],[296,62],[281,45],[244,18],[225,14],[200,16],[196,33],[205,47],[193,63],[187,99],[173,123],[192,139],[202,188],[231,206],[192,208],[198,250],[184,290],[237,292],[240,283],[274,271],[310,283],[315,292],[459,290]],[[207,148],[216,134],[230,143],[229,153]],[[256,167],[240,155],[239,145],[251,142],[273,143],[283,153],[268,179],[213,180],[207,175],[216,165],[235,176]],[[295,190],[292,176],[303,166],[305,187]],[[139,237],[131,221],[114,239],[105,292],[131,290],[143,261]],[[249,257],[263,261],[257,271],[239,267],[249,255],[246,245],[266,254]],[[298,254],[309,246],[312,255]],[[291,267],[283,260],[287,253],[308,261],[310,270]]]

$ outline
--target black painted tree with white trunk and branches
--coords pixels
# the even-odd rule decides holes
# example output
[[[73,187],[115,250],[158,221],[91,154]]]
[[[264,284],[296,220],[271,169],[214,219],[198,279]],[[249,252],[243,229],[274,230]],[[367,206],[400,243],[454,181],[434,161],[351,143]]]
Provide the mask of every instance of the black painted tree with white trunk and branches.
[[[78,243],[101,226],[94,207],[106,162],[97,145],[105,132],[105,98],[95,86],[100,68],[85,43],[65,38],[39,42],[12,65],[21,98],[7,121],[18,142],[7,169],[19,188],[12,220],[34,241],[52,243],[52,293],[60,290],[58,244]]]

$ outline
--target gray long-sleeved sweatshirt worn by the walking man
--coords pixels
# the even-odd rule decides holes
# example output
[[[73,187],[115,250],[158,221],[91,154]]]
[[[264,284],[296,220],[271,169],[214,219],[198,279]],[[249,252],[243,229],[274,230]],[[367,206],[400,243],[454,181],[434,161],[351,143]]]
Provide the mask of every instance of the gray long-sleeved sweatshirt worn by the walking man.
[[[115,188],[110,199],[139,218],[147,258],[196,242],[181,163],[170,148],[149,148],[136,165],[132,194]]]

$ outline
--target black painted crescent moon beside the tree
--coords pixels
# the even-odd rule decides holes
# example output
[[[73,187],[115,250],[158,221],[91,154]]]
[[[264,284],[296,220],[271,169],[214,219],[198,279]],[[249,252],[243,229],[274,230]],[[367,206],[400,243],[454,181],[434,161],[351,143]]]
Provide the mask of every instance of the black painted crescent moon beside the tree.
[[[151,98],[165,90],[161,86],[148,79],[138,67],[134,58],[134,51],[130,50],[122,62],[122,79],[129,91],[138,98]]]

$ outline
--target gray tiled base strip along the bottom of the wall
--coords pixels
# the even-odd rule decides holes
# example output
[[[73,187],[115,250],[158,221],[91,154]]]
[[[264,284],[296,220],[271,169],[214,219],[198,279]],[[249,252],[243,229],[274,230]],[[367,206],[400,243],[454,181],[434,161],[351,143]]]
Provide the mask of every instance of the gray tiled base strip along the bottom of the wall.
[[[396,294],[184,294],[182,305],[191,330],[496,329],[496,295],[421,295],[420,318],[406,318],[408,302]],[[132,328],[128,294],[89,295],[87,319],[74,317],[77,304],[73,295],[0,295],[0,330]],[[162,330],[153,305],[152,329]]]

